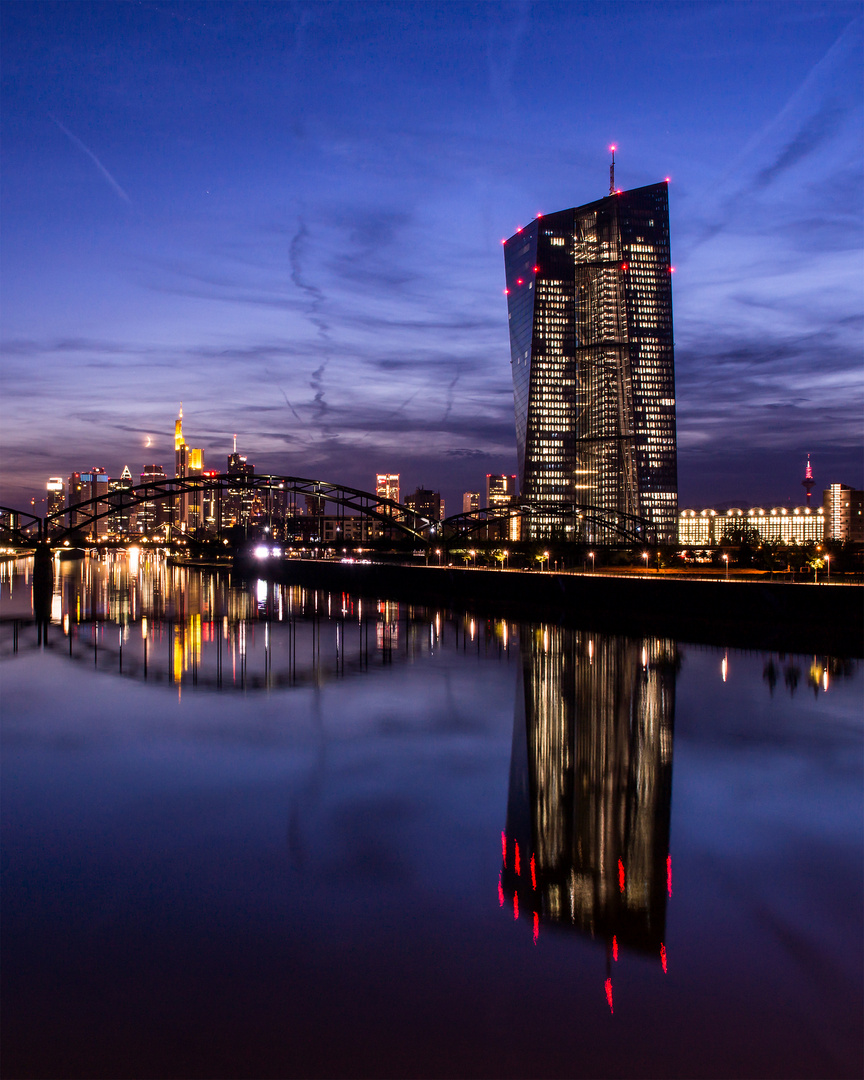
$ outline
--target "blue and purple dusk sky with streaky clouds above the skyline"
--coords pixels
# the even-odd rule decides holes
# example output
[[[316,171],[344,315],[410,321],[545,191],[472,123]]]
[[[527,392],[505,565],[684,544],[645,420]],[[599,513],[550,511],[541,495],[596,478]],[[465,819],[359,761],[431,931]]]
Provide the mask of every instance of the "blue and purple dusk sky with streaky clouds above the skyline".
[[[860,3],[21,3],[0,501],[515,471],[501,239],[671,177],[683,505],[862,476]],[[148,445],[149,443],[149,445]]]

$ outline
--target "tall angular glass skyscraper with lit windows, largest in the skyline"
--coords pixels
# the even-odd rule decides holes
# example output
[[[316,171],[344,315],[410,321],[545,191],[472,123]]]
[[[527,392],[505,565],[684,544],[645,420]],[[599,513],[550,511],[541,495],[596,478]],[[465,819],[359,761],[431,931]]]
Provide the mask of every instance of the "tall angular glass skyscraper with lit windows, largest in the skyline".
[[[504,241],[504,266],[522,500],[633,515],[674,543],[666,184],[536,218]],[[588,518],[582,539],[617,539]],[[535,515],[530,535],[556,523]]]

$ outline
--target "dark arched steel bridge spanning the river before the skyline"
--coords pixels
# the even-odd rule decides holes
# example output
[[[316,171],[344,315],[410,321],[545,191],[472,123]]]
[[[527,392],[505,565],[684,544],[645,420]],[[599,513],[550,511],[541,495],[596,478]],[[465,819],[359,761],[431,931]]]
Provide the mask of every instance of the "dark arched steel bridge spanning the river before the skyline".
[[[224,522],[225,496],[237,497],[246,492],[257,496],[260,502],[260,524],[272,528],[273,521],[284,514],[286,498],[302,496],[320,508],[323,517],[327,503],[338,508],[338,515],[356,515],[380,523],[384,536],[402,535],[423,546],[435,543],[451,545],[460,540],[477,539],[508,542],[517,539],[516,523],[525,522],[530,529],[532,519],[552,522],[550,539],[582,540],[597,543],[615,539],[623,543],[650,542],[651,537],[644,518],[619,511],[603,510],[586,503],[517,502],[510,507],[494,507],[468,513],[454,514],[443,522],[432,521],[409,507],[386,499],[370,491],[330,484],[301,476],[244,475],[221,473],[208,476],[175,476],[149,481],[134,487],[116,488],[65,507],[63,510],[40,517],[26,511],[0,507],[0,538],[6,542],[28,544],[57,544],[73,535],[89,535],[96,523],[109,517],[129,514],[144,504],[165,502],[168,524],[174,523],[180,501],[189,496],[210,497],[214,514],[212,526],[220,534]],[[73,523],[73,524],[72,524]],[[557,534],[557,535],[556,535]]]

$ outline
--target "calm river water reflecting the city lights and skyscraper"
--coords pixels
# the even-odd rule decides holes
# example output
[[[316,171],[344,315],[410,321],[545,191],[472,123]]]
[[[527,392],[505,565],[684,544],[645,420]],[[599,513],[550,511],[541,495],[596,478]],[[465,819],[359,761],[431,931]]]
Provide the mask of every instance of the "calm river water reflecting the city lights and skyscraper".
[[[5,1077],[859,1077],[862,667],[0,580]]]

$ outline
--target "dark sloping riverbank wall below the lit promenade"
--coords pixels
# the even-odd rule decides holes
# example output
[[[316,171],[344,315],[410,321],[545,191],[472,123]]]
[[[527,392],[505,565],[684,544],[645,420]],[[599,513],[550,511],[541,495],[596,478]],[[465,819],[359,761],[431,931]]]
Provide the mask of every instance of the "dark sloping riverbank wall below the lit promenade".
[[[864,585],[555,573],[314,559],[249,562],[248,577],[707,645],[864,657]]]

